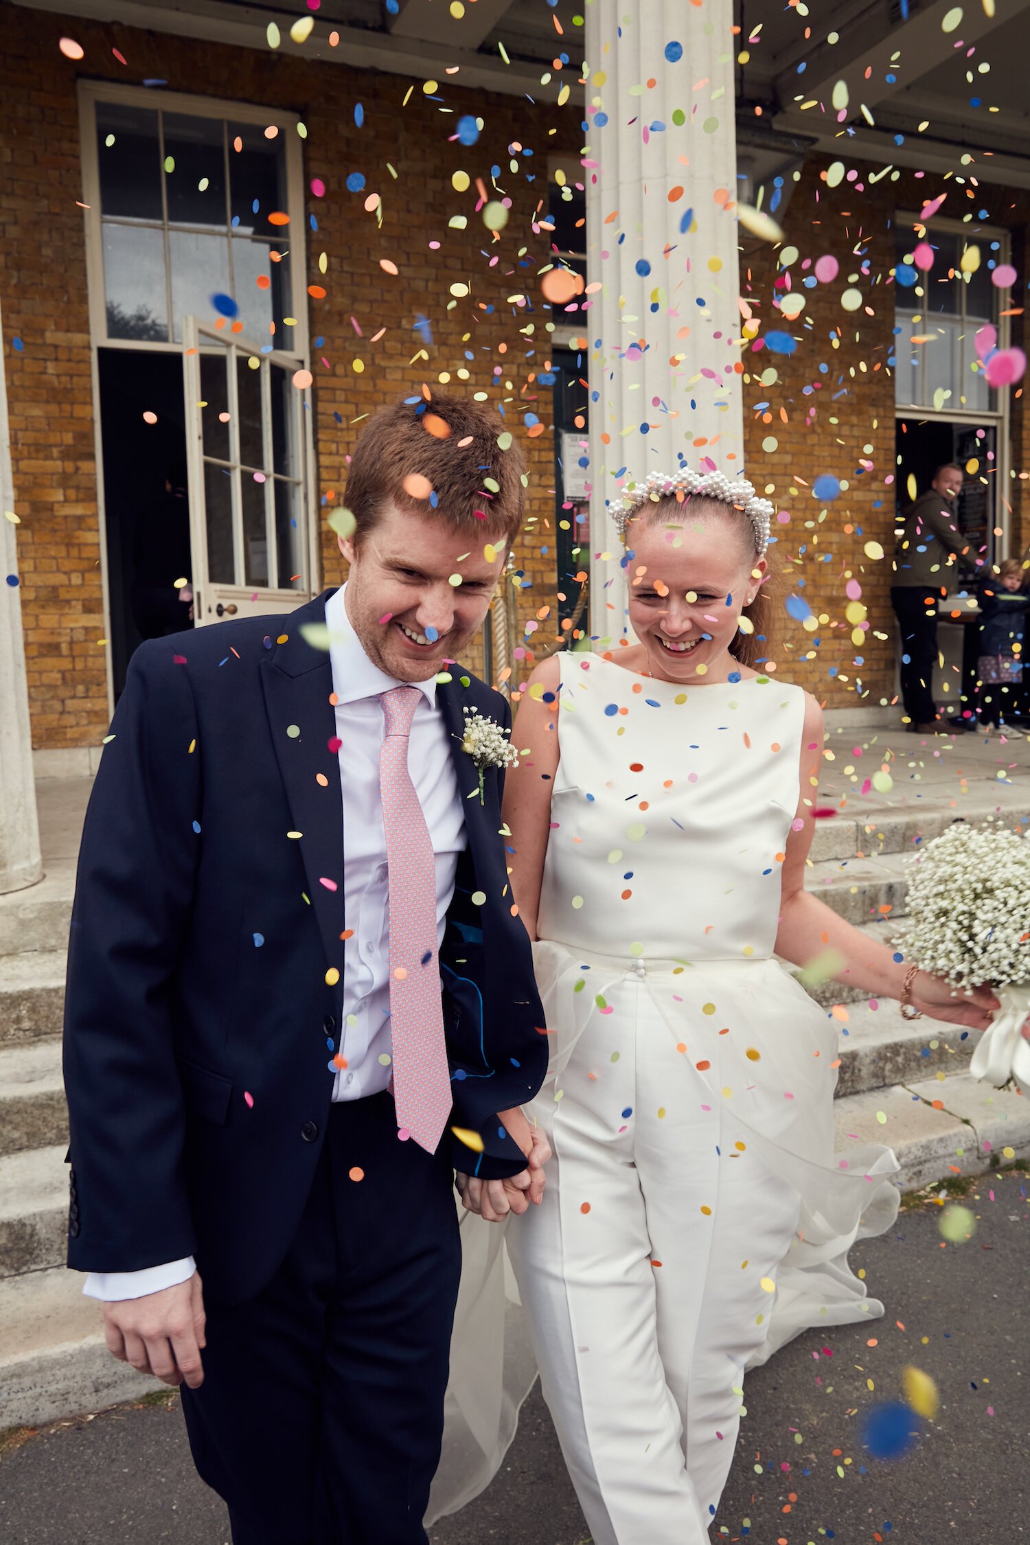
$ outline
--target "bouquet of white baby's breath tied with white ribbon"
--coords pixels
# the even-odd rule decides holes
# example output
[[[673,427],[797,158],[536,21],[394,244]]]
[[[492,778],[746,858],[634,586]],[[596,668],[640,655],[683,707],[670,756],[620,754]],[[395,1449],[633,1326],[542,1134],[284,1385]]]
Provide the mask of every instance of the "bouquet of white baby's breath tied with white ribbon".
[[[956,987],[987,983],[1001,1000],[973,1075],[1030,1092],[1030,842],[956,820],[910,861],[906,913],[896,939],[916,966]]]

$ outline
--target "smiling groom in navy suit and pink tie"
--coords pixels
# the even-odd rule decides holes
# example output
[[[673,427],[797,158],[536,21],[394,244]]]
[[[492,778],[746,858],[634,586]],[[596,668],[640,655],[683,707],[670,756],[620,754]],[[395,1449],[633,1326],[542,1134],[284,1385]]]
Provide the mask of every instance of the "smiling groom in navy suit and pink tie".
[[[502,433],[377,413],[346,586],[145,643],[90,800],[68,1264],[114,1357],[182,1386],[236,1545],[425,1542],[452,1173],[500,1213],[542,1185],[497,1115],[547,1065],[503,771],[462,749],[510,714],[452,667],[522,522]]]

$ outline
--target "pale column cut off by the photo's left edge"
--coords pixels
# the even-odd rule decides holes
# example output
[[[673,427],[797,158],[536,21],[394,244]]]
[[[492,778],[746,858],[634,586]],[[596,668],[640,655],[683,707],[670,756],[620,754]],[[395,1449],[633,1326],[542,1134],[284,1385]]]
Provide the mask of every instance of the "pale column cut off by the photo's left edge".
[[[3,323],[0,321],[0,895],[22,890],[43,878],[32,780],[32,740],[29,701],[25,684],[25,643],[22,640],[22,593],[8,584],[17,576],[17,527],[6,511],[14,510],[11,477],[11,439],[8,428],[8,386],[3,369]]]

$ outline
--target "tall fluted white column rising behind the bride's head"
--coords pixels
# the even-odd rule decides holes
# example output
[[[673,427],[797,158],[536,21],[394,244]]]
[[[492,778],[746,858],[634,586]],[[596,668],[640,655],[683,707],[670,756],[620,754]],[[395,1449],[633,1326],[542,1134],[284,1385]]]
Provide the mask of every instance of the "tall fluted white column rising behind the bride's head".
[[[743,467],[735,39],[732,0],[593,0],[585,17],[590,632],[610,640],[627,630],[607,513],[622,487],[681,456]]]

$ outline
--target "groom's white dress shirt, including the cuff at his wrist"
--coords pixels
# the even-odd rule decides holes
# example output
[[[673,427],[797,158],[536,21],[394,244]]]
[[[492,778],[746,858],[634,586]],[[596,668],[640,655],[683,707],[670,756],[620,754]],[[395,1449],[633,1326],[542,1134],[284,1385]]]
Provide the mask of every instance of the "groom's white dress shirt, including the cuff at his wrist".
[[[344,939],[343,1015],[338,1051],[347,1066],[335,1074],[332,1098],[360,1100],[389,1083],[389,887],[378,759],[383,745],[380,694],[408,686],[364,654],[346,606],[346,584],[326,601],[332,691],[337,698],[340,788],[343,794]],[[437,681],[422,689],[408,746],[418,803],[429,827],[437,870],[437,944],[443,942],[459,853],[466,847],[465,813],[451,759],[449,732],[437,709]],[[330,1058],[326,1049],[326,1061]],[[111,1302],[142,1298],[193,1276],[191,1256],[141,1272],[90,1272],[83,1293]]]

